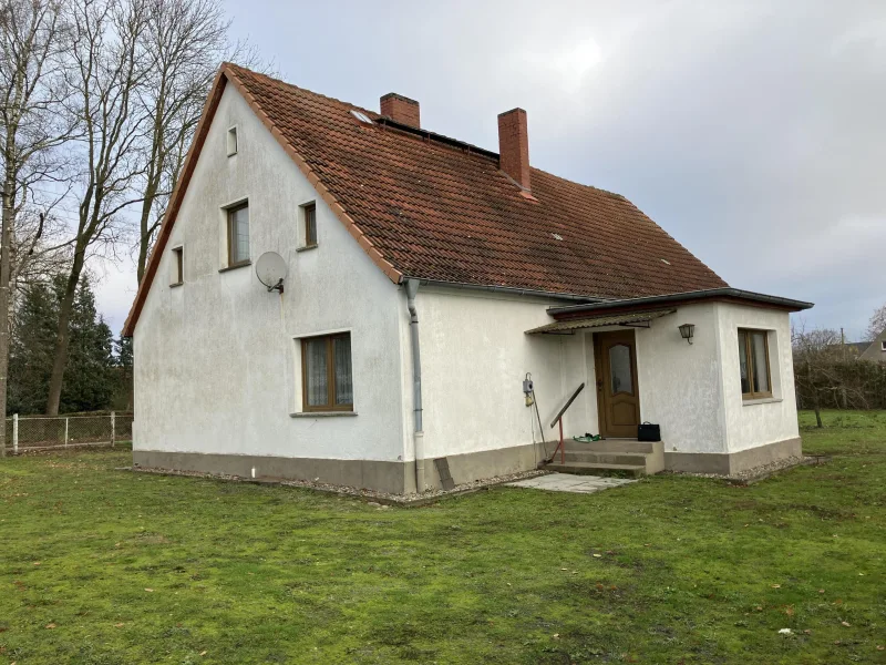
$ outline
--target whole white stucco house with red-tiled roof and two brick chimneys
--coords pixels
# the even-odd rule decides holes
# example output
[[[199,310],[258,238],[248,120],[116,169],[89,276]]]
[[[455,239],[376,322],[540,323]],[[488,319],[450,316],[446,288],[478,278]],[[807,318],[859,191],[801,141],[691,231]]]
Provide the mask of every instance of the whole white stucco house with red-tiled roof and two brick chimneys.
[[[535,468],[583,383],[564,436],[604,440],[558,464],[799,454],[789,313],[811,305],[732,288],[625,197],[530,167],[524,111],[498,131],[491,152],[400,95],[375,113],[223,65],[124,330],[134,463],[411,493],[436,460],[456,483]]]

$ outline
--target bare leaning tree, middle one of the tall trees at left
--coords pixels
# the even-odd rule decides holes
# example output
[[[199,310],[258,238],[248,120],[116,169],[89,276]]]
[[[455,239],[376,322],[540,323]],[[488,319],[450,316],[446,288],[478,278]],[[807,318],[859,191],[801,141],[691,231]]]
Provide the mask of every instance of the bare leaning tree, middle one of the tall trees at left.
[[[59,412],[68,364],[69,321],[86,259],[110,250],[121,235],[120,213],[138,203],[134,185],[144,172],[138,158],[143,127],[136,91],[148,73],[141,48],[146,0],[80,0],[70,9],[74,91],[68,110],[82,127],[78,227],[59,325],[47,413]]]

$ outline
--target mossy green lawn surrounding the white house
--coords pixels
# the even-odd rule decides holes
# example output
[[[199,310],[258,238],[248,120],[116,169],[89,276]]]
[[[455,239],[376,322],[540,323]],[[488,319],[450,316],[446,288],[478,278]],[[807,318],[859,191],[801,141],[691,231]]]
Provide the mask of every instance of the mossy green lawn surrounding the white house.
[[[886,412],[802,422],[749,488],[420,509],[0,461],[0,663],[886,663]]]

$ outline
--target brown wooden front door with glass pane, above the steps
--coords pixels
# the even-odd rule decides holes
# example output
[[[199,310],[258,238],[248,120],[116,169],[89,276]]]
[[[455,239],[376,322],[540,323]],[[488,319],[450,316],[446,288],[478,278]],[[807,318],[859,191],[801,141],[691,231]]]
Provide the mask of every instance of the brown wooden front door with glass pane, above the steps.
[[[595,332],[594,360],[600,436],[636,439],[640,397],[633,330]]]

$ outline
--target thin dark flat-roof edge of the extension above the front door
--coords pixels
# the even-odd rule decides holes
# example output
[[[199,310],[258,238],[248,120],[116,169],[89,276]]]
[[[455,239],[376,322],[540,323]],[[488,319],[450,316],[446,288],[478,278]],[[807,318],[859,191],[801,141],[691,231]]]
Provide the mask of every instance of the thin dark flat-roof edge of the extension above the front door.
[[[666,294],[661,296],[647,296],[642,298],[628,298],[624,300],[605,300],[583,305],[565,305],[548,308],[548,314],[556,319],[585,317],[597,313],[630,313],[649,307],[668,307],[674,305],[690,305],[696,303],[720,301],[783,311],[802,311],[813,307],[812,303],[769,296],[739,288],[713,288],[681,294]]]

